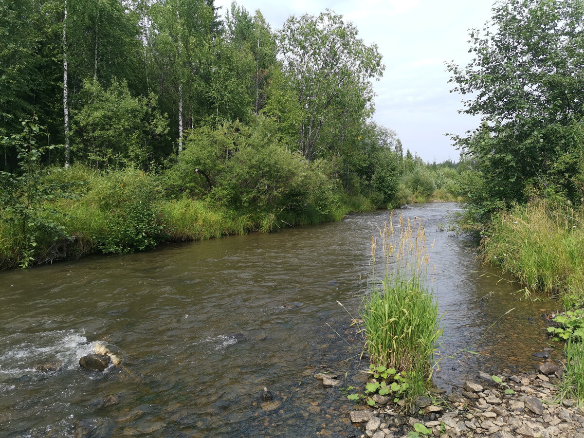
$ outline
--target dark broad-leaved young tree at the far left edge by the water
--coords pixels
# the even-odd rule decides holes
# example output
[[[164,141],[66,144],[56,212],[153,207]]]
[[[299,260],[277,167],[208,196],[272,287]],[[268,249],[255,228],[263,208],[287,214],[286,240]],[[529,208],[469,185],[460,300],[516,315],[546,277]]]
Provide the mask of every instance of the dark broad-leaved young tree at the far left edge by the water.
[[[4,245],[13,248],[12,257],[0,263],[28,267],[35,256],[39,256],[37,245],[67,237],[58,221],[63,213],[51,205],[52,201],[77,195],[66,184],[43,180],[49,170],[40,168],[40,159],[55,147],[43,145],[41,137],[46,133],[44,127],[37,124],[36,117],[21,124],[21,134],[1,140],[2,144],[8,144],[18,153],[19,168],[14,173],[0,172],[0,221],[4,223],[2,240],[9,241]]]

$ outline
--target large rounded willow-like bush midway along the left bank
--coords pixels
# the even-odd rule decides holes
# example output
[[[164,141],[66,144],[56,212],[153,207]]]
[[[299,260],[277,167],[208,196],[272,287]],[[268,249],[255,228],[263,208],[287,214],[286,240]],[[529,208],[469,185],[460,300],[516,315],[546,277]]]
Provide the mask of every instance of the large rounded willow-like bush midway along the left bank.
[[[186,194],[272,218],[280,213],[323,218],[338,210],[342,196],[329,164],[308,162],[278,139],[272,121],[264,117],[251,127],[236,122],[193,131],[166,173],[172,196]]]

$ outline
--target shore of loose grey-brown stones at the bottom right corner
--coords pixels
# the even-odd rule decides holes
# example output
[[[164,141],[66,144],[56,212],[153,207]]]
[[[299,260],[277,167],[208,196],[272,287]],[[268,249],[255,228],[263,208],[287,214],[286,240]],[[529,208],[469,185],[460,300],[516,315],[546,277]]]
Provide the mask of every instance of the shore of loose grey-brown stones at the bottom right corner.
[[[584,411],[574,401],[555,402],[561,375],[551,361],[529,376],[501,373],[493,379],[481,372],[443,399],[419,398],[411,416],[377,399],[373,409],[355,406],[350,418],[364,427],[361,438],[584,438]]]

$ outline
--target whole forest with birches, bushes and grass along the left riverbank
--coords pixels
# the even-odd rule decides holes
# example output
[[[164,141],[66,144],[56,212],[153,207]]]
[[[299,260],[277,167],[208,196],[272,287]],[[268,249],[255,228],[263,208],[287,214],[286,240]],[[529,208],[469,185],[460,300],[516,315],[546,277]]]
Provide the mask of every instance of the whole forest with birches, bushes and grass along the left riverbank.
[[[273,31],[212,1],[0,10],[1,268],[458,196],[464,166],[373,121],[381,55],[332,11]]]

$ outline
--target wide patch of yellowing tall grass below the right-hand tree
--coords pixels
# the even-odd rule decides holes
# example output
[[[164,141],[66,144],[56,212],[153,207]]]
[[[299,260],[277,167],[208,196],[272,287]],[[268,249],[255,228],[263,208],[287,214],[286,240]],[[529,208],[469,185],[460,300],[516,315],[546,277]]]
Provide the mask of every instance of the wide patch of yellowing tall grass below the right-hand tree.
[[[527,292],[558,294],[565,307],[584,305],[584,211],[533,199],[492,221],[484,259]]]

